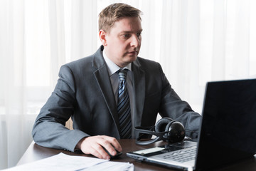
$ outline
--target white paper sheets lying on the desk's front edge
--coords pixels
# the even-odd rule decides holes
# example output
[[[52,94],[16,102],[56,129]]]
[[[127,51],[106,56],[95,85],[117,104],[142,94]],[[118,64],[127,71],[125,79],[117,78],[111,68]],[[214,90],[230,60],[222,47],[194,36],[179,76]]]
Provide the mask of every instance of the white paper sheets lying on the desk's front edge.
[[[2,171],[70,171],[70,170],[134,170],[134,165],[128,162],[110,162],[94,157],[65,155],[60,153],[36,162],[11,167]]]

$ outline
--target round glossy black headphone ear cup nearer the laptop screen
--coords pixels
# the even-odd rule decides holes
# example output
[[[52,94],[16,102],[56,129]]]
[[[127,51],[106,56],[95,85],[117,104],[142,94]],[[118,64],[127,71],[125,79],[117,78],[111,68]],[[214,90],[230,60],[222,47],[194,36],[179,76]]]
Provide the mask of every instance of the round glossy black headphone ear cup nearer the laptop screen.
[[[173,121],[167,124],[165,131],[168,131],[168,133],[164,135],[164,138],[166,138],[168,142],[180,142],[185,138],[185,128],[178,121]]]

